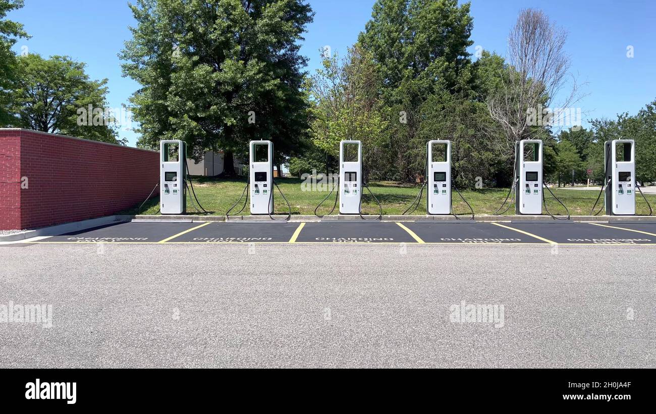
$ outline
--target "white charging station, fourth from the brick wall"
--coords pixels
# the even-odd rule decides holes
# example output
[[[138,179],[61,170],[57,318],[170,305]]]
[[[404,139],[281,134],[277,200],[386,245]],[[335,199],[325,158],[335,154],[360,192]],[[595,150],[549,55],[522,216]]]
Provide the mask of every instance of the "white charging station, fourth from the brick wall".
[[[451,141],[428,141],[428,214],[451,214]]]

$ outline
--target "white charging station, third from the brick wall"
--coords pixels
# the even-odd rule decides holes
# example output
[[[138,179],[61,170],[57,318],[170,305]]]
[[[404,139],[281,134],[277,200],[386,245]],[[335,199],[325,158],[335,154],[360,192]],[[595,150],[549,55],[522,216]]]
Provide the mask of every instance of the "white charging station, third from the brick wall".
[[[359,214],[362,197],[362,143],[339,143],[339,213]]]

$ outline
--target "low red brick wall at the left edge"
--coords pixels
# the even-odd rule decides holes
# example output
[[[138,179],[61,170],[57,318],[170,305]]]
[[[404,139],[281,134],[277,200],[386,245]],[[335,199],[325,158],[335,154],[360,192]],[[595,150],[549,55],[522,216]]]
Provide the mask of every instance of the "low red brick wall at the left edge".
[[[0,163],[0,185],[10,195],[5,201],[2,193],[0,212],[10,219],[0,219],[0,229],[115,214],[142,202],[159,182],[157,152],[29,130],[0,130]],[[27,189],[20,189],[21,177]]]

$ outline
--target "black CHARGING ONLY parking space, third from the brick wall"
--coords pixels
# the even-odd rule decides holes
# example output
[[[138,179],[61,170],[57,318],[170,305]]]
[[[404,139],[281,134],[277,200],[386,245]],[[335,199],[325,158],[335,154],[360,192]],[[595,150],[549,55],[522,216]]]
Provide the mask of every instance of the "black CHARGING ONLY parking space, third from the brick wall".
[[[416,243],[418,240],[392,221],[363,223],[305,223],[296,242]]]

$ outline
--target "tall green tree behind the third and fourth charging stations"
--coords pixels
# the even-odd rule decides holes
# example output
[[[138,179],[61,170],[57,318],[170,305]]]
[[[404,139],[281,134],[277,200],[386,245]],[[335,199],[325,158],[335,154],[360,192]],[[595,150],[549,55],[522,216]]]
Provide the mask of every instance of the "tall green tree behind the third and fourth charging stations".
[[[433,94],[470,87],[470,5],[457,0],[378,0],[359,43],[380,68],[382,100],[390,114],[382,164],[394,178],[413,180],[421,107]]]

